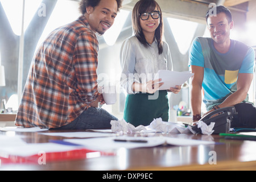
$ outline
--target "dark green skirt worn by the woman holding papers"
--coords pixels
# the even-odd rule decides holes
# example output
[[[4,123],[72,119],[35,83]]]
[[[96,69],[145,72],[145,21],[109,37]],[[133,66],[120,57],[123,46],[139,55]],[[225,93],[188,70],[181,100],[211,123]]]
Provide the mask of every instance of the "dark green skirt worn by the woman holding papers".
[[[159,90],[158,97],[156,97],[156,94],[128,94],[123,119],[135,127],[139,125],[150,125],[156,118],[162,118],[163,121],[168,121],[169,103],[167,91]],[[156,99],[149,100],[148,96]]]

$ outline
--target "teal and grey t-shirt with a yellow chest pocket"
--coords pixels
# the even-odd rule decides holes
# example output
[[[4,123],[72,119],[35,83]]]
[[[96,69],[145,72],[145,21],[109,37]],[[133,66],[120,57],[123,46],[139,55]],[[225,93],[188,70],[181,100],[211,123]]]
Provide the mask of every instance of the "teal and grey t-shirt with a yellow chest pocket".
[[[253,48],[236,40],[231,40],[226,53],[218,52],[211,38],[197,37],[193,41],[188,65],[204,67],[202,86],[207,110],[236,92],[238,73],[253,73],[254,57]]]

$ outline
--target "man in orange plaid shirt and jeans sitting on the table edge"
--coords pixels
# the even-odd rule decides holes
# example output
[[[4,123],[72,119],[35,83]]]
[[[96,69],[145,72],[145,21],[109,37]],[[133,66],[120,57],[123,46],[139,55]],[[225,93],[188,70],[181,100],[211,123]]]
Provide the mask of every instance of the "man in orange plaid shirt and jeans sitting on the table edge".
[[[114,23],[121,0],[81,0],[79,19],[57,28],[32,60],[15,125],[57,129],[110,128],[98,107],[98,40]]]

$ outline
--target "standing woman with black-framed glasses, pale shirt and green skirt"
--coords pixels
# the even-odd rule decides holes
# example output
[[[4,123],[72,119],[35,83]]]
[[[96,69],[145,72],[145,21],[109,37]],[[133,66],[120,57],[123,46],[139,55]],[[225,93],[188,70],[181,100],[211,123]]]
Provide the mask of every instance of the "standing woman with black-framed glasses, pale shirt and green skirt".
[[[172,70],[168,44],[162,40],[163,17],[154,0],[140,0],[132,14],[134,36],[121,47],[121,86],[127,97],[123,118],[134,126],[149,125],[154,119],[168,121],[167,91],[179,93],[181,86],[159,90],[160,79],[154,80],[160,69]]]

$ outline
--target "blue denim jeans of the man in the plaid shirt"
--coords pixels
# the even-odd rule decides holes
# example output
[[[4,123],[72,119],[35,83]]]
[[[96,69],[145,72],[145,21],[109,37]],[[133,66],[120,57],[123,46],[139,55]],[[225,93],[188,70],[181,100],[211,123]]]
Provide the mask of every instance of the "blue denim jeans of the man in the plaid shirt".
[[[108,111],[100,107],[89,107],[79,117],[68,125],[58,127],[58,130],[87,130],[87,129],[110,129],[110,121],[118,120]]]

